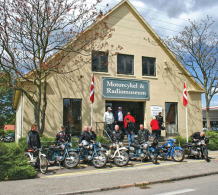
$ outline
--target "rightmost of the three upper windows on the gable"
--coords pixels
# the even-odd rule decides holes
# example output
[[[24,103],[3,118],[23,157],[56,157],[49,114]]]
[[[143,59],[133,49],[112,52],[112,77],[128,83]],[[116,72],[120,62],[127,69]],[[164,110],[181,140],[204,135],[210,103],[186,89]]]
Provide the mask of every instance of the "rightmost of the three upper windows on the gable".
[[[142,75],[156,76],[156,58],[142,57]]]

